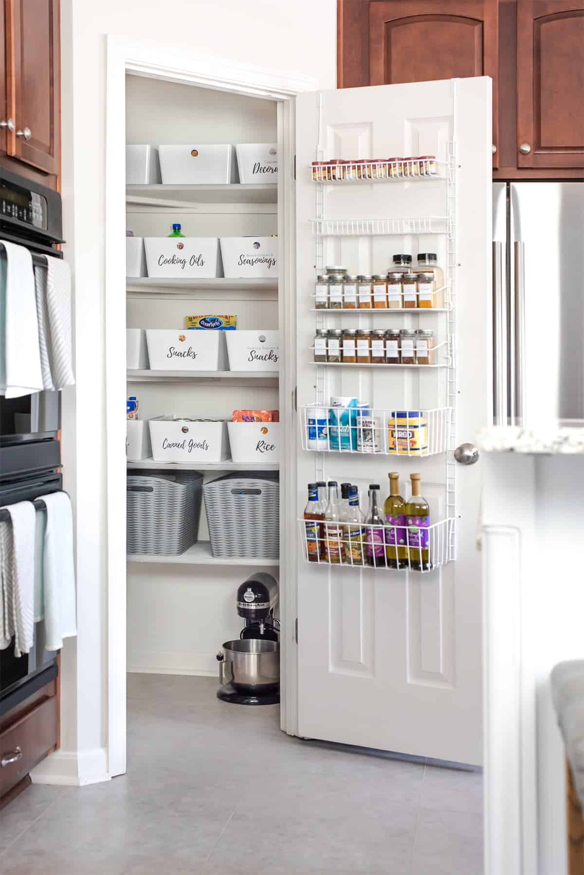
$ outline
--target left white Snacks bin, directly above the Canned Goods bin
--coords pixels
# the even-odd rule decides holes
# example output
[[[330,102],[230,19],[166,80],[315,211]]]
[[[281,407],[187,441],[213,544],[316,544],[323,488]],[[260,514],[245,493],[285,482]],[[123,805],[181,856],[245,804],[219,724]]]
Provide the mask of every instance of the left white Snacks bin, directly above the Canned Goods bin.
[[[225,333],[146,328],[150,367],[155,371],[225,371]]]

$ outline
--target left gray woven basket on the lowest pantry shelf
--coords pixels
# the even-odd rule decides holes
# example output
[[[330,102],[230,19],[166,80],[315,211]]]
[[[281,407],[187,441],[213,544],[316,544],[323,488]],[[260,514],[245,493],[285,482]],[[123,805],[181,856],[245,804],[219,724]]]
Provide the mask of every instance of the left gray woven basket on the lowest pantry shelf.
[[[178,556],[197,542],[203,475],[128,477],[128,553]]]

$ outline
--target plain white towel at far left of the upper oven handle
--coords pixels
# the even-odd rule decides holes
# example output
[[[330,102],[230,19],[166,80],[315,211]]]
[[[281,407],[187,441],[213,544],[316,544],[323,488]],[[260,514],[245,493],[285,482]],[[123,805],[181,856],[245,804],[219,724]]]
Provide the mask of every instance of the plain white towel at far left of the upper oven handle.
[[[32,255],[24,246],[0,243],[6,251],[4,395],[18,398],[43,388]]]

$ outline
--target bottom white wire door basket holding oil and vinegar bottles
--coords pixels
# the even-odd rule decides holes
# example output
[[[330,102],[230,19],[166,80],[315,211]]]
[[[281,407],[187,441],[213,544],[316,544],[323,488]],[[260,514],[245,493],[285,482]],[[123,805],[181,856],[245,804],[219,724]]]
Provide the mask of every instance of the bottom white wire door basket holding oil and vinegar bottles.
[[[454,517],[420,526],[415,517],[403,525],[379,526],[318,520],[298,521],[302,556],[311,565],[428,573],[454,559]],[[390,542],[396,532],[397,543]]]

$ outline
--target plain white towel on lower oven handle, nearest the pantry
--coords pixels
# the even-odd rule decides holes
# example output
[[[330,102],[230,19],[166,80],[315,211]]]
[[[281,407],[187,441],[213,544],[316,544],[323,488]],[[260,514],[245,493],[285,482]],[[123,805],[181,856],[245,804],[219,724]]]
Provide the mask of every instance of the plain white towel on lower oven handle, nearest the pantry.
[[[43,592],[45,649],[59,650],[63,639],[77,634],[73,514],[67,493],[43,495],[46,504]]]

